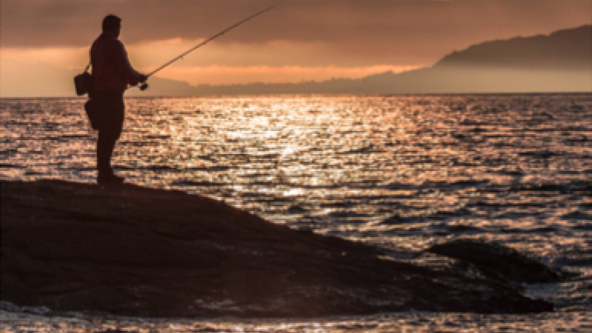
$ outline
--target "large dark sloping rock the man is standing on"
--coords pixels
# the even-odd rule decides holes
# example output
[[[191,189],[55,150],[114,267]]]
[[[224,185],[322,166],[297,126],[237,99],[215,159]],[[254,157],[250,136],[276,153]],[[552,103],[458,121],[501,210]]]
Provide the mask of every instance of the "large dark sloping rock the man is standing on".
[[[134,316],[525,313],[498,279],[379,257],[181,191],[1,182],[2,299]]]

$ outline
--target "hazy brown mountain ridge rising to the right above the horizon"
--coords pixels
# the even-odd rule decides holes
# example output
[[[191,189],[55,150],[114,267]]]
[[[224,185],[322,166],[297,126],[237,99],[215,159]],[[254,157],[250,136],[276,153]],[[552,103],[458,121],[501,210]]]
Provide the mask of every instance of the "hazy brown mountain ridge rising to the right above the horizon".
[[[321,82],[206,84],[184,89],[189,91],[194,95],[587,92],[592,91],[592,25],[485,41],[449,53],[429,68],[403,73]]]

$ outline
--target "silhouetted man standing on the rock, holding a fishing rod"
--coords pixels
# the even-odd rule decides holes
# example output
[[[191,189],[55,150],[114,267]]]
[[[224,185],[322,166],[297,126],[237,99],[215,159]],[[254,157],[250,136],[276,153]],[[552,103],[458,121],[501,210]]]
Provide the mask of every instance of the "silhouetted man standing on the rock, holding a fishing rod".
[[[107,15],[102,22],[102,33],[91,47],[92,88],[89,97],[101,113],[96,142],[99,184],[123,182],[123,177],[115,175],[111,168],[111,155],[123,127],[123,93],[128,85],[137,85],[147,78],[131,67],[126,49],[118,40],[120,31],[121,18]]]

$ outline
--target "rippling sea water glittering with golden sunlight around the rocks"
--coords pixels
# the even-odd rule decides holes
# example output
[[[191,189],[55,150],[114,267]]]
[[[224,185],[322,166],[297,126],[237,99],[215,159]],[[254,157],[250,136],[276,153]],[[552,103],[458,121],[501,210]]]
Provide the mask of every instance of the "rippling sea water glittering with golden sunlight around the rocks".
[[[84,100],[0,100],[0,179],[94,182]],[[398,260],[482,239],[566,271],[526,286],[555,312],[124,318],[0,302],[0,332],[591,332],[592,94],[127,98],[128,182],[219,198]]]

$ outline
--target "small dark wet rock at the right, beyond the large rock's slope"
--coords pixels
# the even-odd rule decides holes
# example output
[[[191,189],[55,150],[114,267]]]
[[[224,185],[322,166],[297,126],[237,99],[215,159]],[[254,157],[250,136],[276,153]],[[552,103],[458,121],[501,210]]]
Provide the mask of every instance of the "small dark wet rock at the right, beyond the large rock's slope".
[[[496,280],[541,283],[561,281],[565,277],[559,270],[498,244],[458,240],[433,245],[427,251],[470,262],[485,276]]]

